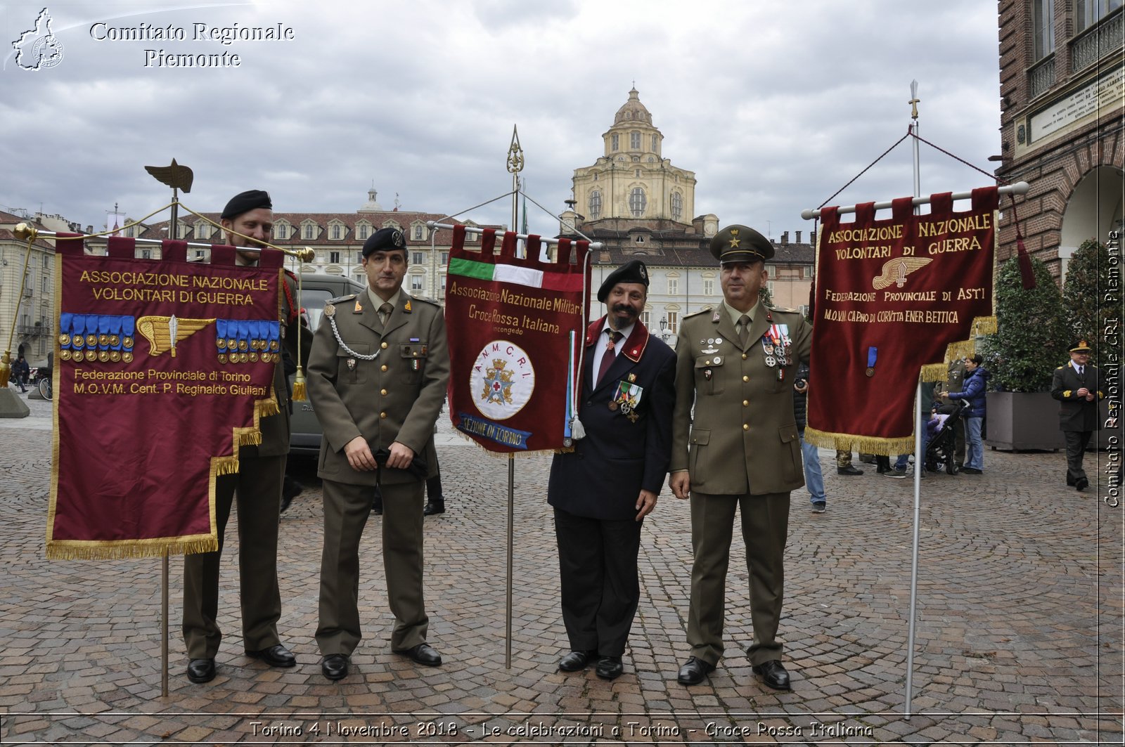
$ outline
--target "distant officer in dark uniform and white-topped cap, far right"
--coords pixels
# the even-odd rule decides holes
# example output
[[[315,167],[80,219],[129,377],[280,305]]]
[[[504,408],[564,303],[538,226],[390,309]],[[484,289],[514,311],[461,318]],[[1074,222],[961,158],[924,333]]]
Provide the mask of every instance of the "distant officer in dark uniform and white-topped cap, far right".
[[[1066,485],[1084,490],[1090,480],[1082,456],[1098,430],[1098,400],[1106,396],[1105,379],[1090,366],[1090,345],[1082,340],[1070,349],[1070,362],[1055,369],[1051,396],[1059,400],[1059,429],[1066,440]]]

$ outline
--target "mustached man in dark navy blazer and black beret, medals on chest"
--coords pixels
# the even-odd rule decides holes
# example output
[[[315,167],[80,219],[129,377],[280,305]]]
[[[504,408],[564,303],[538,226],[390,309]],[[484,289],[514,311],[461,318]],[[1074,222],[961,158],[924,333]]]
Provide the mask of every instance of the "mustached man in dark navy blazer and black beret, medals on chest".
[[[597,659],[597,676],[621,675],[640,584],[640,529],[668,474],[675,353],[640,322],[648,270],[633,260],[606,277],[606,315],[586,331],[578,420],[586,435],[555,456],[547,502],[555,507],[562,622],[570,652],[559,669]]]

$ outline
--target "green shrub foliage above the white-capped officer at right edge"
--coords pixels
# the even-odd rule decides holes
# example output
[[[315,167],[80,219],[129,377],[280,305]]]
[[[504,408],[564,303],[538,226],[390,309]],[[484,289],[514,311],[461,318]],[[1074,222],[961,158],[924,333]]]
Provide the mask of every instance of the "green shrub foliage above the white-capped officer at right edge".
[[[1109,250],[1095,238],[1082,242],[1066,264],[1066,280],[1062,288],[1062,305],[1070,327],[1070,339],[1086,340],[1094,352],[1090,362],[1102,366],[1106,321],[1114,305],[1106,303],[1109,288]]]

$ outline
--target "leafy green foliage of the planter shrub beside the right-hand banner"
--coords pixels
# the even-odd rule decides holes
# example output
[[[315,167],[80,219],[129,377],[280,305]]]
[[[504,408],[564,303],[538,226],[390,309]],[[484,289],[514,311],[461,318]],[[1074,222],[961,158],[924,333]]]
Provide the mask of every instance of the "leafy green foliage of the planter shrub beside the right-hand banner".
[[[984,338],[981,354],[1001,392],[1047,392],[1055,368],[1068,360],[1062,294],[1046,264],[1032,258],[1032,269],[1030,290],[1024,290],[1015,256],[996,278],[997,332]]]

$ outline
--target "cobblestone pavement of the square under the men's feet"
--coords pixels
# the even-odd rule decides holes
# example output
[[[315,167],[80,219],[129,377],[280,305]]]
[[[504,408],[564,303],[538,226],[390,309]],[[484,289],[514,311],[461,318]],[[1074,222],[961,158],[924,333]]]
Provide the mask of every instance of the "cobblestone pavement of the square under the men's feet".
[[[507,460],[443,424],[448,513],[426,519],[430,639],[446,664],[389,650],[379,532],[364,533],[364,640],[339,683],[320,673],[322,540],[308,489],[281,519],[280,628],[298,665],[242,652],[237,542],[227,533],[218,676],[192,685],[171,561],[170,693],[161,698],[161,561],[47,561],[48,403],[0,421],[0,741],[456,744],[1120,744],[1123,510],[1063,485],[1060,453],[986,453],[982,476],[922,482],[912,716],[903,717],[912,482],[870,466],[842,477],[822,452],[828,512],[796,490],[781,637],[793,691],[750,670],[745,558],[735,548],[727,655],[704,684],[686,656],[688,513],[667,489],[641,542],[642,598],[626,674],[557,670],[566,650],[544,501],[548,456],[515,459],[512,666],[505,667]],[[96,438],[96,436],[92,436]],[[1088,459],[1094,460],[1095,454]],[[232,522],[235,518],[232,516]],[[379,519],[372,516],[371,524]],[[738,543],[736,533],[736,546]]]

